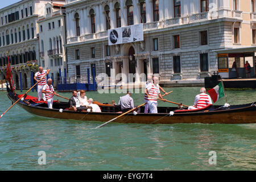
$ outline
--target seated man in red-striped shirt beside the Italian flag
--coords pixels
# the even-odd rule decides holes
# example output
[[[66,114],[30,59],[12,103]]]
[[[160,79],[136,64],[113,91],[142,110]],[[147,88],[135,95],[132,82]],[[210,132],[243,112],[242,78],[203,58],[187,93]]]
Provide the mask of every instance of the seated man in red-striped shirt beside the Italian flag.
[[[193,106],[189,106],[188,110],[191,109],[201,109],[202,107],[207,106],[208,104],[212,104],[212,99],[208,94],[206,94],[206,89],[201,88],[200,89],[200,94],[198,94],[195,97],[195,102]]]

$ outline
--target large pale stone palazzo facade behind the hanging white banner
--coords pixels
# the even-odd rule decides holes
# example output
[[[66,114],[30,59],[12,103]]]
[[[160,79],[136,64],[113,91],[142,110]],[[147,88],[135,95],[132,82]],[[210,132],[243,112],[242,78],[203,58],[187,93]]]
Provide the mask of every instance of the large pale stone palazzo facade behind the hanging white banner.
[[[125,73],[122,84],[140,84],[141,73],[159,73],[164,85],[201,85],[204,77],[218,71],[216,50],[254,46],[254,4],[251,0],[69,0],[65,5],[68,76],[86,81],[86,69],[95,67],[96,76]],[[138,23],[143,23],[143,42],[108,46],[109,28]],[[129,78],[129,73],[137,75]]]

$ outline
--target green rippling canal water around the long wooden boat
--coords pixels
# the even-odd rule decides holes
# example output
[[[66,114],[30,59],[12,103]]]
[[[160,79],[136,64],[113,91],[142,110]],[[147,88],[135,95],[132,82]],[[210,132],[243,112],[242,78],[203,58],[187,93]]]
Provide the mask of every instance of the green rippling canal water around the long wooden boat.
[[[192,105],[199,87],[174,90],[166,98]],[[18,91],[20,93],[20,91]],[[24,91],[23,91],[24,93]],[[60,93],[70,97],[70,93]],[[256,90],[227,90],[230,105],[256,101]],[[36,96],[36,92],[30,92]],[[100,102],[123,94],[86,92]],[[135,105],[143,94],[132,94]],[[11,106],[0,92],[1,114]],[[60,98],[61,101],[64,101]],[[217,105],[223,105],[221,98]],[[174,106],[158,102],[160,106]],[[256,124],[141,125],[43,118],[14,106],[0,119],[0,170],[255,170]],[[39,151],[46,164],[39,165]],[[209,164],[210,151],[216,164]]]

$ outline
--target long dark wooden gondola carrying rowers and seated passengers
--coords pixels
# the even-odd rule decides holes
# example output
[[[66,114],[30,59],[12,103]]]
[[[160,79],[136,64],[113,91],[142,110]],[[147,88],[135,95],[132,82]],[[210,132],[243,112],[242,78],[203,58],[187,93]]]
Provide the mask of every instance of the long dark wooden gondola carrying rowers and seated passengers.
[[[7,96],[12,102],[18,100],[7,87]],[[48,109],[46,102],[35,102],[27,97],[24,101],[20,100],[17,104],[29,113],[42,117],[57,119],[75,119],[80,121],[101,121],[106,122],[120,115],[120,108],[115,105],[101,104],[101,113],[87,111],[68,110],[68,102],[53,102],[54,109]],[[171,113],[170,113],[171,112]],[[173,112],[173,113],[172,113]],[[129,113],[121,118],[115,119],[116,123],[143,123],[143,124],[174,124],[174,123],[256,123],[256,102],[244,105],[232,105],[229,107],[209,105],[200,110],[179,110],[177,107],[158,107],[158,114],[144,114],[144,107],[141,113],[134,115]]]

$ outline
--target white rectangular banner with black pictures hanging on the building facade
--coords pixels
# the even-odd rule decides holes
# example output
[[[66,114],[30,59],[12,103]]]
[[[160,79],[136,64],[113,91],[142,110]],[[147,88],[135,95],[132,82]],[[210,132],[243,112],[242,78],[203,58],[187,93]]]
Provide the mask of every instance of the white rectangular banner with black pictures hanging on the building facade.
[[[143,41],[143,24],[108,30],[109,46]]]

